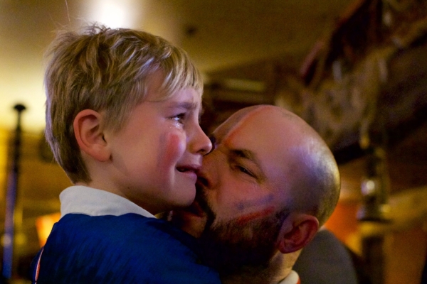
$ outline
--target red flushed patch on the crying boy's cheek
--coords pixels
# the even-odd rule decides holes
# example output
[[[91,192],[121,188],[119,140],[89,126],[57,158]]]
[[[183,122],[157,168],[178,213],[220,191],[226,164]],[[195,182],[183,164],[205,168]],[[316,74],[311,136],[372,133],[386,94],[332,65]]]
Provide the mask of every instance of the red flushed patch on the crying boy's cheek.
[[[181,133],[167,133],[159,141],[158,169],[166,173],[175,168],[176,163],[184,154],[186,148],[185,137]]]

